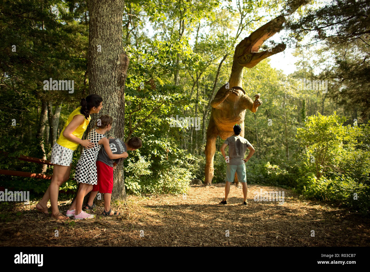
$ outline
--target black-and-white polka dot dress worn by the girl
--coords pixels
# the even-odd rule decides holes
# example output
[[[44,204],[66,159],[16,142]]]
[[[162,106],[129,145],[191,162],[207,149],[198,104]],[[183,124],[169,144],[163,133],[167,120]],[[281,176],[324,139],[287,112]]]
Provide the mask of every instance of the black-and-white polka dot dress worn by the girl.
[[[76,172],[74,179],[77,182],[87,183],[96,185],[97,182],[97,170],[96,170],[96,158],[102,145],[98,145],[101,138],[104,138],[104,134],[97,133],[95,129],[92,129],[87,135],[86,139],[91,139],[90,142],[94,143],[93,148],[83,148],[81,158],[77,162]]]

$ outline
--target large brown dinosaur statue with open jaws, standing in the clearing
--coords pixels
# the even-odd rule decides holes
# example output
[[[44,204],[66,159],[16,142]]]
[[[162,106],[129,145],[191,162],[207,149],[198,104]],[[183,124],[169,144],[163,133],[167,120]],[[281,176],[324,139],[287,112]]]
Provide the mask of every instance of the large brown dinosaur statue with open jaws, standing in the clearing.
[[[256,94],[255,101],[245,94],[243,90],[243,68],[252,68],[261,60],[285,50],[285,44],[278,44],[269,50],[258,52],[260,46],[269,37],[282,29],[285,21],[283,16],[272,19],[267,24],[252,32],[249,37],[242,40],[236,47],[229,79],[230,89],[223,85],[211,101],[212,113],[209,118],[206,138],[206,166],[205,185],[211,185],[213,178],[213,158],[216,152],[216,138],[219,135],[222,140],[232,136],[233,126],[240,124],[242,131],[240,136],[244,137],[244,117],[246,110],[255,113],[262,104],[260,94]],[[235,87],[235,88],[233,88]],[[235,185],[238,186],[238,178],[235,173]]]

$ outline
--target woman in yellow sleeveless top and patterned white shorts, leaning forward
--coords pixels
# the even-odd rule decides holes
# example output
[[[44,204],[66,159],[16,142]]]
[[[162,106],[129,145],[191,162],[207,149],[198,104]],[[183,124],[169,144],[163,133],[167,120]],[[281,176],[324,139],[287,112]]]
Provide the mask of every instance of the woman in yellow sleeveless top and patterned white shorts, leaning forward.
[[[68,219],[58,209],[58,194],[59,187],[66,182],[71,173],[71,162],[73,151],[78,147],[78,144],[86,148],[94,147],[90,142],[91,139],[81,140],[87,125],[89,124],[92,113],[99,113],[101,110],[103,99],[98,94],[90,94],[86,98],[81,99],[81,107],[75,109],[65,122],[60,136],[53,146],[51,151],[50,162],[54,164],[53,178],[47,188],[43,198],[36,204],[36,209],[40,212],[48,214],[47,202],[50,199],[51,217],[55,219]]]

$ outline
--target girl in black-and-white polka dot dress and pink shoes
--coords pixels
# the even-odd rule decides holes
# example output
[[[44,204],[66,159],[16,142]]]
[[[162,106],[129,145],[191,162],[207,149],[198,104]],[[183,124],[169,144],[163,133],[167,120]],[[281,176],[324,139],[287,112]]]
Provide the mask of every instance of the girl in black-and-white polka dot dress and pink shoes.
[[[125,158],[128,156],[127,152],[113,154],[109,147],[109,140],[104,134],[111,130],[112,122],[112,117],[109,115],[102,115],[96,123],[97,128],[92,129],[87,135],[87,138],[91,139],[91,142],[95,144],[95,146],[90,149],[83,148],[81,158],[77,162],[74,179],[80,182],[80,187],[78,188],[75,201],[73,201],[71,207],[67,211],[67,216],[74,216],[75,219],[94,218],[94,215],[82,211],[82,205],[85,195],[92,190],[92,185],[97,184],[96,159],[102,145],[104,145],[104,149],[111,159]]]

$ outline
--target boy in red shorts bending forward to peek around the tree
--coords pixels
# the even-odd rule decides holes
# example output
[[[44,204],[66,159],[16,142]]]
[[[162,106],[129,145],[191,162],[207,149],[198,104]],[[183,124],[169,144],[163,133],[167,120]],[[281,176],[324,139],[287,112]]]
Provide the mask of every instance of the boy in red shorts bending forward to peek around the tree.
[[[118,138],[109,139],[109,147],[113,154],[127,154],[128,150],[137,150],[142,146],[141,140],[138,137],[132,137],[128,140],[127,145]],[[94,208],[94,198],[98,194],[98,191],[101,194],[104,194],[104,211],[102,215],[119,215],[117,212],[113,212],[111,209],[111,198],[112,198],[112,189],[113,189],[113,171],[116,168],[116,165],[119,164],[122,160],[127,158],[128,154],[124,158],[119,159],[110,159],[107,152],[104,148],[101,148],[98,157],[96,160],[97,166],[97,175],[98,175],[98,184],[93,185],[92,191],[90,193],[89,200],[85,206],[85,210],[89,211]]]

